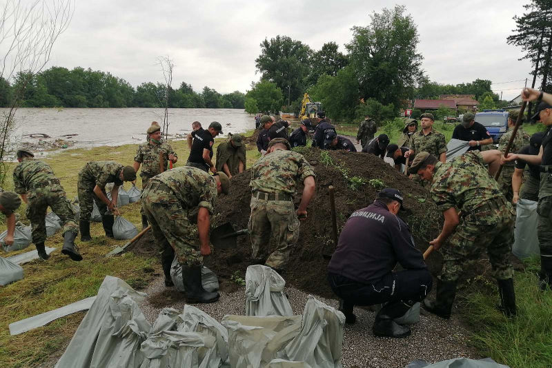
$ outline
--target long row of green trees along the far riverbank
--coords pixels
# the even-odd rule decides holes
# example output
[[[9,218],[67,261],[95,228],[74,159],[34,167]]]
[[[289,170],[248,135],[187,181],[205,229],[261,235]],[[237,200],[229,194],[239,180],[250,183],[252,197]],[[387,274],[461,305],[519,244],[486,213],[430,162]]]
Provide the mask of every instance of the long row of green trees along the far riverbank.
[[[0,107],[10,107],[17,99],[23,108],[165,108],[165,93],[162,83],[133,88],[108,72],[80,67],[19,72],[12,84],[0,78]],[[168,90],[168,108],[243,109],[244,103],[245,94],[239,91],[220,94],[205,87],[198,93],[186,82]]]

